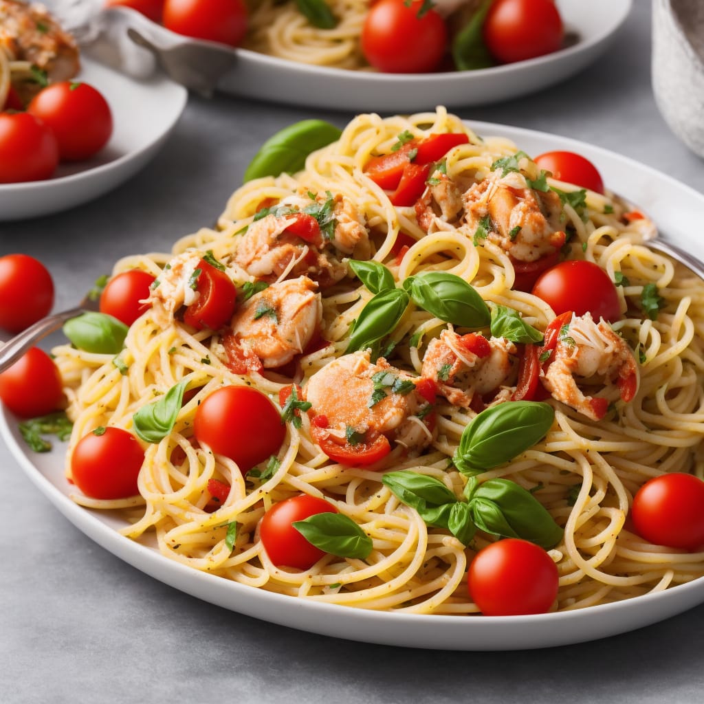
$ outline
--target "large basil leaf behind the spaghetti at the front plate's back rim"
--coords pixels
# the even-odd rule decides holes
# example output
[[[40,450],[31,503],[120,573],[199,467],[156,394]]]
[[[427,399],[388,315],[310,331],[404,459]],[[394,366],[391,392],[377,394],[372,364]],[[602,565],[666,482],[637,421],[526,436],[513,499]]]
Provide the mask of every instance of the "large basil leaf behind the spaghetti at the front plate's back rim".
[[[324,120],[303,120],[284,127],[264,142],[246,168],[243,181],[301,171],[308,154],[335,142],[341,134],[338,127]]]

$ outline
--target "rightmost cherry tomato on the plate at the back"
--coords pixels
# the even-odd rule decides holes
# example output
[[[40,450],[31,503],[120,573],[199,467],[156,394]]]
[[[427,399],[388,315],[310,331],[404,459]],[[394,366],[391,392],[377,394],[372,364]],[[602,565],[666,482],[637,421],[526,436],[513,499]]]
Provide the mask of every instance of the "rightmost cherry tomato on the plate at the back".
[[[494,0],[483,35],[496,61],[513,63],[558,51],[564,30],[553,0]]]

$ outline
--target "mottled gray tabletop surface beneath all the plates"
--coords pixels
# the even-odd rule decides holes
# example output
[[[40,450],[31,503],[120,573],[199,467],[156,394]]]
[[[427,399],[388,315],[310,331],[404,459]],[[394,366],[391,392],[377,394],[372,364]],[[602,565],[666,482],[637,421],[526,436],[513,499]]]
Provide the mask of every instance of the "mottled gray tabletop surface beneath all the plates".
[[[704,163],[655,107],[646,0],[635,1],[608,53],[579,75],[455,112],[598,144],[704,192]],[[305,107],[191,96],[165,149],[129,183],[66,213],[0,222],[0,254],[41,259],[56,282],[56,310],[69,307],[117,258],[167,251],[213,222],[258,145],[310,116]],[[315,116],[340,126],[351,118]],[[458,653],[330,639],[203,603],[126,565],[65,520],[1,442],[0,478],[3,703],[703,700],[704,606],[546,650]]]

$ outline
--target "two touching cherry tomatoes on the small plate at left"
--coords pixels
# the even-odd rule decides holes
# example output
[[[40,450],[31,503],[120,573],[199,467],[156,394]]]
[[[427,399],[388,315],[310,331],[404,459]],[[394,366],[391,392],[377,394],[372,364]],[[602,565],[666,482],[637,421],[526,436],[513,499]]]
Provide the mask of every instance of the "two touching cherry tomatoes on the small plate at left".
[[[49,84],[26,110],[11,97],[0,112],[0,183],[50,178],[60,162],[94,156],[113,133],[108,102],[87,83]]]

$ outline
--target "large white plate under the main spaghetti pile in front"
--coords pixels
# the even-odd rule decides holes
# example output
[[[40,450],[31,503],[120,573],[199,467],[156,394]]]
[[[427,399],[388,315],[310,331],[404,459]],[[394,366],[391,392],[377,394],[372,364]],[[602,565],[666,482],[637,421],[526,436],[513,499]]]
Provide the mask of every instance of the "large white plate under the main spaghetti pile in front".
[[[571,149],[590,158],[608,186],[636,203],[647,203],[655,222],[666,223],[675,243],[704,257],[692,222],[704,215],[704,196],[672,178],[614,153],[563,137],[514,127],[470,122],[484,136],[503,135],[524,151]],[[519,650],[579,643],[647,626],[704,602],[704,578],[615,604],[532,616],[425,616],[367,611],[269,593],[204,574],[163,557],[115,532],[119,517],[85,510],[68,498],[63,448],[32,453],[11,414],[0,414],[0,431],[20,466],[56,508],[82,532],[137,569],[186,593],[262,620],[304,631],[369,643],[449,650]]]

